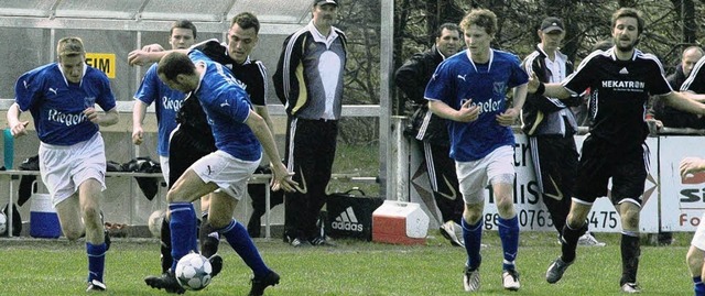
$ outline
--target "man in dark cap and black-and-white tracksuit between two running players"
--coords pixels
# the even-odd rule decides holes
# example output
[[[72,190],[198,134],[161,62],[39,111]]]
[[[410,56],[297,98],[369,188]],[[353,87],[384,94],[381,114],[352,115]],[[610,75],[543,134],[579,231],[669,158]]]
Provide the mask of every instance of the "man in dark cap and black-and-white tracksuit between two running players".
[[[573,73],[573,63],[558,51],[565,36],[563,21],[544,19],[538,34],[541,43],[524,58],[523,67],[542,83],[560,83]],[[581,102],[578,96],[558,100],[529,94],[522,109],[522,130],[529,138],[536,183],[558,233],[571,209],[577,175],[578,153],[573,139],[577,123],[570,107]],[[604,245],[589,233],[581,239],[581,244]]]

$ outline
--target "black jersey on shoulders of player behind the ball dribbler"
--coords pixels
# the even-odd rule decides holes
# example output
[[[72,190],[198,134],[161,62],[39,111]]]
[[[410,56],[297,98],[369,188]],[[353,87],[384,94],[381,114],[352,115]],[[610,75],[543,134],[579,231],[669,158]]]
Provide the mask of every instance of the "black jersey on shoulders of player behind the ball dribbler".
[[[242,83],[242,88],[250,96],[250,102],[257,106],[265,106],[267,101],[267,68],[260,61],[249,57],[245,63],[238,64],[228,54],[228,46],[212,39],[194,45],[192,48],[203,52],[216,63],[219,63],[232,72],[232,76]]]

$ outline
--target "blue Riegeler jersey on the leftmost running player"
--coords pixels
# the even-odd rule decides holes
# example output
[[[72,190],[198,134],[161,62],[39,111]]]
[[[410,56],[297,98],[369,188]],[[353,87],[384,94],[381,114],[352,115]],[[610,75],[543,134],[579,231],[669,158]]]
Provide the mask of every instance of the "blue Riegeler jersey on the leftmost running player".
[[[58,63],[34,68],[18,79],[14,101],[21,111],[30,110],[40,141],[52,145],[73,145],[98,132],[84,110],[96,103],[102,110],[115,108],[110,80],[100,70],[84,66],[79,84],[66,80]]]

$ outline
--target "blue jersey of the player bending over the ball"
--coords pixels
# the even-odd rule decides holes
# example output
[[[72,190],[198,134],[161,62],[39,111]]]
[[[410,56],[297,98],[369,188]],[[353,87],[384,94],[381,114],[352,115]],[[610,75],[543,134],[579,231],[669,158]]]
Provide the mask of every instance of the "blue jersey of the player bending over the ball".
[[[259,161],[262,157],[262,146],[245,123],[250,114],[251,103],[242,83],[232,77],[229,69],[213,62],[200,51],[191,51],[188,57],[206,67],[195,94],[213,130],[216,147],[238,160]]]

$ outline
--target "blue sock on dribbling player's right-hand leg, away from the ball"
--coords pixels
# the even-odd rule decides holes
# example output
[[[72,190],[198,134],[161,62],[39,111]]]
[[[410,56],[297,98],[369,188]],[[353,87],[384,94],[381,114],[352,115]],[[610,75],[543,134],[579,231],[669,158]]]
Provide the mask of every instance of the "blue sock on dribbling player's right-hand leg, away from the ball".
[[[262,278],[270,273],[267,264],[262,261],[262,256],[260,256],[260,252],[254,246],[254,242],[250,239],[250,234],[240,222],[232,219],[230,224],[219,229],[218,232],[225,237],[232,250],[252,270],[256,278]]]

